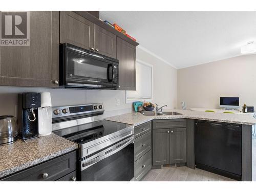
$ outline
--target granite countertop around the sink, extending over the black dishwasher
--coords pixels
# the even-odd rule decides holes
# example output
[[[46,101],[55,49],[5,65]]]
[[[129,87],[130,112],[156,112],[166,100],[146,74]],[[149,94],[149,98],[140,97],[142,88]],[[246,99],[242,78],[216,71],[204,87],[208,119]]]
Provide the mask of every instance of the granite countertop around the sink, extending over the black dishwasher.
[[[134,126],[151,121],[153,119],[198,119],[198,120],[218,121],[218,122],[247,124],[247,125],[253,125],[256,123],[255,118],[253,118],[251,115],[245,115],[245,114],[212,113],[212,112],[200,112],[200,111],[190,111],[190,110],[171,110],[171,111],[181,113],[182,115],[145,116],[141,113],[134,112],[134,113],[127,113],[123,115],[109,117],[109,118],[106,118],[106,120],[133,124]],[[164,112],[167,112],[167,111],[164,111]]]

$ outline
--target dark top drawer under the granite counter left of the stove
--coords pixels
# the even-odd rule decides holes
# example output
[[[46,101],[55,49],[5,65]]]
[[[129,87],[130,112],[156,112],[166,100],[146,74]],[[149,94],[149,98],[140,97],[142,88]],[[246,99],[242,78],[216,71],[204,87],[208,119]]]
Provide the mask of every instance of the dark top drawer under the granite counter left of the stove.
[[[74,170],[76,170],[76,152],[71,152],[23,170],[2,181],[55,181]],[[44,179],[43,174],[47,174],[48,177]]]

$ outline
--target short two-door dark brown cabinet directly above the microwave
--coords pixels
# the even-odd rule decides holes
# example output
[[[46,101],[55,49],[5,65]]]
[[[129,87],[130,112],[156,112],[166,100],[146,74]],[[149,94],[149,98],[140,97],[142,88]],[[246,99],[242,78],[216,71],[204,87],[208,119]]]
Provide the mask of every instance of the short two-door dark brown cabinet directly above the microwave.
[[[116,58],[116,35],[73,11],[60,11],[60,43]]]

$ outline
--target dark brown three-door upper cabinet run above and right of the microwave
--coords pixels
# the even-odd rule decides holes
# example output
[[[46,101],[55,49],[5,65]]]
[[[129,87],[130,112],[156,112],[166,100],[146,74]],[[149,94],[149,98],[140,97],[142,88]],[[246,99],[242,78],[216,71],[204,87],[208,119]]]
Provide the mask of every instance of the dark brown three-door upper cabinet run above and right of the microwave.
[[[60,43],[90,49],[119,60],[119,90],[136,90],[139,44],[87,11],[60,11]]]

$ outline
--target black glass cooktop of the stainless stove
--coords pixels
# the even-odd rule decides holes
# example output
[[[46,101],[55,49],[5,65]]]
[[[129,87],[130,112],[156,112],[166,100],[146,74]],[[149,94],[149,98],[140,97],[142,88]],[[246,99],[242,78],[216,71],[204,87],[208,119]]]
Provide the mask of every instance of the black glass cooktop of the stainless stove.
[[[100,137],[104,137],[106,135],[118,132],[129,126],[132,125],[108,120],[101,120],[78,126],[72,126],[54,133],[76,143],[83,144],[98,139]]]

